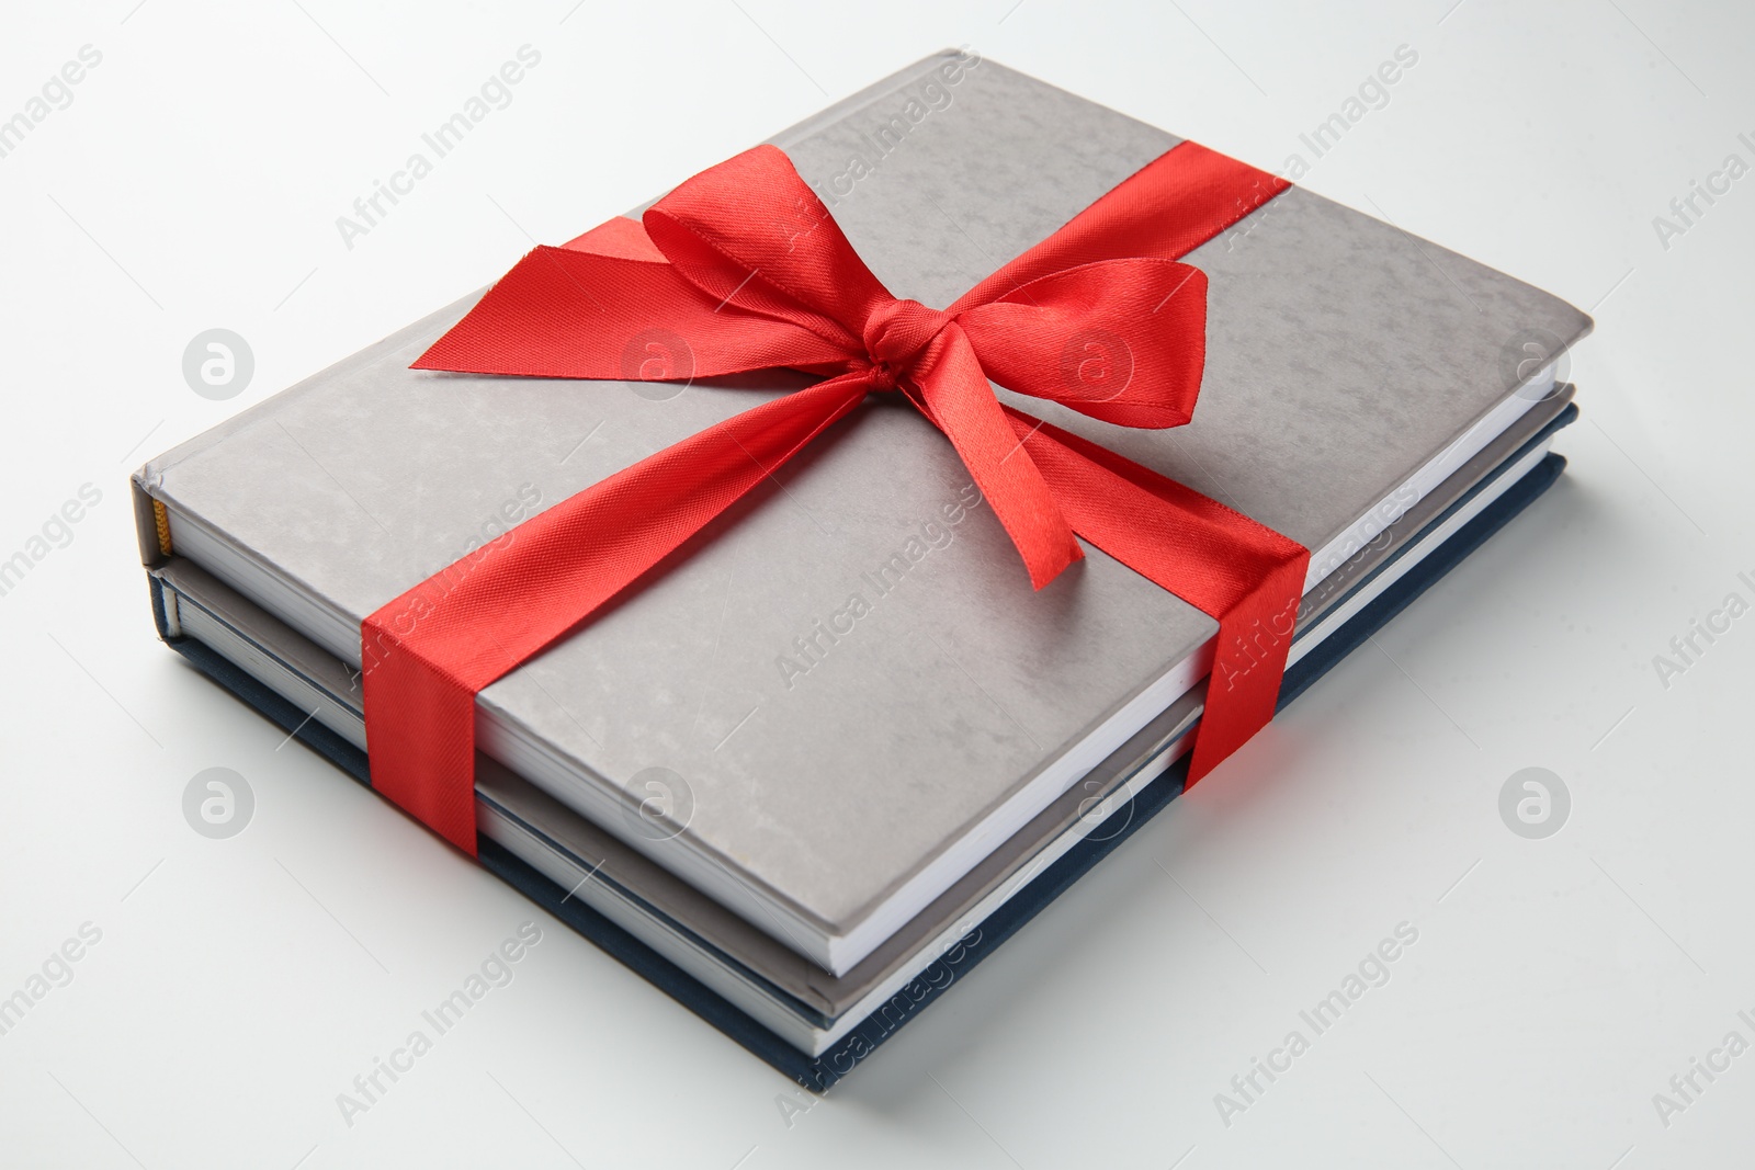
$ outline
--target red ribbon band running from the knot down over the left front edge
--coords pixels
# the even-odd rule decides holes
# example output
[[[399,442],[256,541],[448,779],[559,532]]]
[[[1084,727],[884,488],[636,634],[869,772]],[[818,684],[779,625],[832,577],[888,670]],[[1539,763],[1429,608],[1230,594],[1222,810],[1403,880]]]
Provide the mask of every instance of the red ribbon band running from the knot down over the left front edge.
[[[476,854],[476,693],[542,653],[769,479],[869,389],[774,398],[562,500],[362,628],[372,788]]]

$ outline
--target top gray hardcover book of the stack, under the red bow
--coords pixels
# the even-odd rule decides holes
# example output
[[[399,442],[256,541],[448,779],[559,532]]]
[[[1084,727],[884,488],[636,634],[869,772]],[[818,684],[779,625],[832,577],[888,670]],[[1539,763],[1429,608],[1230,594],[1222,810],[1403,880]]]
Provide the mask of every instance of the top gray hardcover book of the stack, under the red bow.
[[[944,54],[776,142],[895,295],[942,305],[1178,139]],[[1588,330],[1539,289],[1300,189],[1185,260],[1209,277],[1190,426],[1020,405],[1307,546],[1307,588],[1543,396],[1551,368],[1525,363],[1522,339],[1551,339],[1553,358]],[[409,370],[474,300],[144,467],[170,546],[358,663],[362,619],[476,544],[804,384]],[[893,403],[704,535],[483,691],[477,742],[837,974],[1185,695],[1216,631],[1090,547],[1032,591],[949,444]],[[662,840],[639,831],[655,784],[686,823]]]

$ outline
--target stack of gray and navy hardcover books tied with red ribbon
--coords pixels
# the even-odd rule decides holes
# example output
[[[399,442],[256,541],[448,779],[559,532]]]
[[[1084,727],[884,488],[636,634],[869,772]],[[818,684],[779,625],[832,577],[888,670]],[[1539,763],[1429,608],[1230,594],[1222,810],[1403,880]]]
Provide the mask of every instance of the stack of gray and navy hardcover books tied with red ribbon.
[[[944,305],[1178,139],[948,53],[774,142]],[[1311,551],[1285,705],[1553,482],[1590,321],[1299,188],[1185,260],[1193,423],[1027,405]],[[160,635],[367,782],[365,616],[811,381],[411,370],[477,298],[135,475]],[[1095,547],[1034,591],[944,437],[874,400],[479,695],[481,861],[827,1089],[1181,793],[1216,628]]]

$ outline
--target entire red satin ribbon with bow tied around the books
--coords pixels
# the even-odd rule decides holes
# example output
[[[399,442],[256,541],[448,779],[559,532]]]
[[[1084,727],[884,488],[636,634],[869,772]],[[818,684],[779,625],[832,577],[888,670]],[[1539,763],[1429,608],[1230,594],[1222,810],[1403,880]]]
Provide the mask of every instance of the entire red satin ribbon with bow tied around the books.
[[[1186,423],[1206,275],[1178,258],[1286,186],[1185,142],[944,310],[892,296],[770,146],[695,175],[641,223],[537,247],[416,368],[828,377],[556,503],[367,617],[372,786],[474,854],[476,693],[885,391],[951,440],[1037,588],[1083,556],[1076,533],[1218,619],[1190,782],[1206,775],[1274,714],[1309,553],[1002,407],[988,379],[1121,426]]]

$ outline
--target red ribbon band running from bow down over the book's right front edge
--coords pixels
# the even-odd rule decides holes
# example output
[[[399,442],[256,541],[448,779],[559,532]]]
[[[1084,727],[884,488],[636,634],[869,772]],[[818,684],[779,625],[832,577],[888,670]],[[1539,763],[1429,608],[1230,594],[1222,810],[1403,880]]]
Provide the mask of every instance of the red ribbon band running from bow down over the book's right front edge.
[[[1218,619],[1188,784],[1274,717],[1309,551],[1192,488],[1006,409],[1074,531]]]

